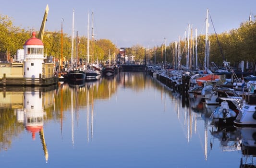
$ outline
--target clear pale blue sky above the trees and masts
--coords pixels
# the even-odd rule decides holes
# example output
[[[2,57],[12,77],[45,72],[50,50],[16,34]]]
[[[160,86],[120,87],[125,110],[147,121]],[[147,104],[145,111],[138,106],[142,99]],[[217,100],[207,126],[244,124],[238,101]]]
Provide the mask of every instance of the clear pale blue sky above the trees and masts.
[[[117,47],[140,45],[154,47],[184,37],[188,24],[205,34],[209,9],[217,33],[238,28],[256,15],[256,0],[0,0],[0,14],[12,18],[23,28],[40,29],[46,5],[49,5],[46,30],[87,36],[87,14],[94,11],[96,39],[110,39]],[[90,21],[91,22],[91,21]],[[209,20],[209,33],[214,33]]]

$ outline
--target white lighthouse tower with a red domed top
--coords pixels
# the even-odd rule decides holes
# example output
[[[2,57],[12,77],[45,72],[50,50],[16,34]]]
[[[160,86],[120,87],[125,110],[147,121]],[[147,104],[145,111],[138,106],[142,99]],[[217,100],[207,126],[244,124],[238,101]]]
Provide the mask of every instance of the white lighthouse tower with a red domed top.
[[[36,32],[32,33],[24,46],[24,77],[39,78],[43,74],[44,44],[36,38]]]

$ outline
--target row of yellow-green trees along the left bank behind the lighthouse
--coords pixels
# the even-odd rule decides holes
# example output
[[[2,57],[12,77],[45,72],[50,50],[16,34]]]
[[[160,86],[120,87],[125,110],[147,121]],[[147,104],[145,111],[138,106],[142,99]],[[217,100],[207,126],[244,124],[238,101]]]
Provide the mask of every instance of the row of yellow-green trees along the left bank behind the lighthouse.
[[[38,34],[38,31],[36,30],[30,28],[24,29],[14,26],[10,17],[0,14],[0,53],[10,54],[14,58],[17,49],[23,48],[25,41],[32,37],[31,34],[33,31],[37,32]],[[45,31],[43,37],[44,53],[47,56],[55,56],[55,58],[61,58],[62,45],[62,56],[68,60],[71,58],[71,41],[72,36],[68,36],[66,33],[61,35],[61,31]],[[111,57],[114,54],[117,54],[116,46],[109,39],[98,39],[94,41],[90,39],[89,43],[90,59],[92,59],[92,53],[94,53],[94,60],[102,61],[107,61],[110,58],[110,54]],[[74,37],[73,51],[74,57],[77,56],[79,59],[86,60],[87,37]]]

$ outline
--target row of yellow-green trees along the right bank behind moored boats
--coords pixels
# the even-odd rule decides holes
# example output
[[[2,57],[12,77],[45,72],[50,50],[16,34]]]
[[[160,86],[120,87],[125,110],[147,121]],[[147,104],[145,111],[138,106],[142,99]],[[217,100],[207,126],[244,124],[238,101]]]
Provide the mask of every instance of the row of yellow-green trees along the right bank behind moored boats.
[[[198,62],[201,67],[204,64],[205,57],[205,36],[197,36],[197,55]],[[251,69],[255,68],[256,60],[256,22],[248,21],[241,23],[237,29],[232,29],[221,34],[210,34],[210,50],[209,50],[209,62],[214,62],[219,68],[223,66],[223,61],[230,62],[230,64],[238,68],[239,63],[244,60],[248,61]],[[186,58],[186,40],[180,41],[181,48],[181,64],[185,65]],[[195,38],[192,55],[195,59]],[[155,53],[155,54],[154,54]],[[177,55],[177,54],[176,54]],[[151,61],[161,63],[165,57],[165,45],[162,44],[151,52]],[[175,56],[175,42],[171,42],[166,46],[166,62],[173,64]]]

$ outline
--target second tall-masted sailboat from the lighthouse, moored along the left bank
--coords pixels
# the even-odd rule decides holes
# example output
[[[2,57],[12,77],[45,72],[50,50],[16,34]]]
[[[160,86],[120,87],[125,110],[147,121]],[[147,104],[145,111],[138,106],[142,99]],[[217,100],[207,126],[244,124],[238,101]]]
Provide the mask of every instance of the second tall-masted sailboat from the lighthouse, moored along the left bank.
[[[88,26],[87,26],[87,60],[86,60],[86,65],[87,65],[87,69],[86,69],[86,80],[97,80],[97,76],[98,73],[90,67],[90,63],[89,63],[89,19],[90,19],[90,14],[88,12]]]

